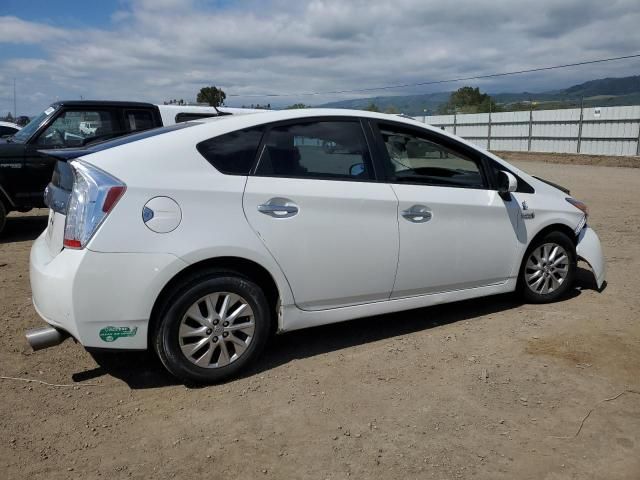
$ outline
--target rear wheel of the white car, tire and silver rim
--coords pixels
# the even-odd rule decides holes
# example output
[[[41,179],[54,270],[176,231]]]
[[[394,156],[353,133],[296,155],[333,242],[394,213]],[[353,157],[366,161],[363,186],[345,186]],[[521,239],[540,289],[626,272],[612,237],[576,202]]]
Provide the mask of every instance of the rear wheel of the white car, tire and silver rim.
[[[161,316],[155,348],[179,379],[217,383],[255,361],[270,331],[262,289],[235,272],[214,271],[176,290]]]

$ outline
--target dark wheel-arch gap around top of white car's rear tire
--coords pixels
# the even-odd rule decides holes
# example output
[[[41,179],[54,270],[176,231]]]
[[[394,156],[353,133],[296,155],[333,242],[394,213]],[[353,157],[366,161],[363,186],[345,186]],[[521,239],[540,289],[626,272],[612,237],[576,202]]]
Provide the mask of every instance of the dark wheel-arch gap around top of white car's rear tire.
[[[278,308],[281,299],[280,289],[274,276],[259,263],[242,257],[214,257],[192,263],[175,274],[162,288],[151,309],[149,328],[147,329],[147,345],[153,345],[153,336],[159,324],[160,317],[170,304],[180,285],[186,286],[197,282],[207,272],[227,270],[238,273],[259,285],[267,297],[269,310],[273,315],[272,326],[278,328]]]

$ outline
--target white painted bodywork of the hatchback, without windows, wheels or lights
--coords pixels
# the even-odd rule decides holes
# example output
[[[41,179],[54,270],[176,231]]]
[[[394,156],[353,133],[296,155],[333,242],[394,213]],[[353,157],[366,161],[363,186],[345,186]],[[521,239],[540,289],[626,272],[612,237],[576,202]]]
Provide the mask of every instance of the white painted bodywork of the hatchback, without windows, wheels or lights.
[[[536,192],[513,193],[505,202],[489,190],[429,187],[430,192],[383,182],[224,175],[195,148],[227,132],[317,116],[384,119],[434,131],[481,151]],[[117,177],[127,190],[83,250],[62,247],[64,216],[52,215],[32,249],[31,282],[40,315],[88,347],[146,348],[158,295],[178,273],[202,261],[238,257],[263,267],[277,285],[278,328],[286,331],[513,291],[534,236],[549,225],[574,231],[583,221],[566,195],[495,155],[422,123],[371,112],[314,109],[217,117],[80,160]],[[172,198],[181,209],[181,222],[169,233],[153,232],[142,221],[144,205],[157,196]],[[281,219],[257,211],[276,196],[295,200],[299,214]],[[475,202],[489,210],[479,212]],[[433,208],[431,222],[409,224],[400,216],[418,203]],[[459,212],[464,218],[454,219]],[[443,230],[429,235],[428,228],[437,225]],[[421,229],[424,233],[412,234]],[[579,240],[578,255],[601,286],[599,240],[588,228]],[[452,245],[455,258],[448,253]],[[421,262],[430,262],[430,268],[420,268]],[[439,278],[439,272],[445,273]],[[119,325],[137,327],[137,334],[115,344],[98,336],[102,328]]]

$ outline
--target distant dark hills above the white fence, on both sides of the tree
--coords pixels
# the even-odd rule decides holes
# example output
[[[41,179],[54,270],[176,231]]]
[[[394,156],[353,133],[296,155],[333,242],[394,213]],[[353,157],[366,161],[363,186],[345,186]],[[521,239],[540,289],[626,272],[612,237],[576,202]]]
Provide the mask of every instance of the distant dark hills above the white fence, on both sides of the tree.
[[[380,111],[395,108],[407,115],[434,115],[438,107],[446,103],[451,92],[426,93],[423,95],[379,96],[341,100],[325,103],[320,107],[364,109],[374,103]],[[615,106],[640,104],[640,75],[623,78],[601,78],[573,85],[562,90],[547,92],[491,93],[491,97],[503,108],[530,100],[538,103],[538,109],[569,108],[579,105],[583,98],[588,106]]]

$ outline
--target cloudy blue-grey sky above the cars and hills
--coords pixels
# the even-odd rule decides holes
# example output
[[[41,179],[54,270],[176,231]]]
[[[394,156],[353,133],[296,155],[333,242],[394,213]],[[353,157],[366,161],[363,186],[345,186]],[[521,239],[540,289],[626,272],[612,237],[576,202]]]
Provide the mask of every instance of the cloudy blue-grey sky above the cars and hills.
[[[296,95],[640,53],[638,0],[0,0],[0,113],[56,99],[320,104],[429,93]],[[543,91],[640,74],[640,59],[464,82]],[[265,93],[286,97],[253,97]]]

